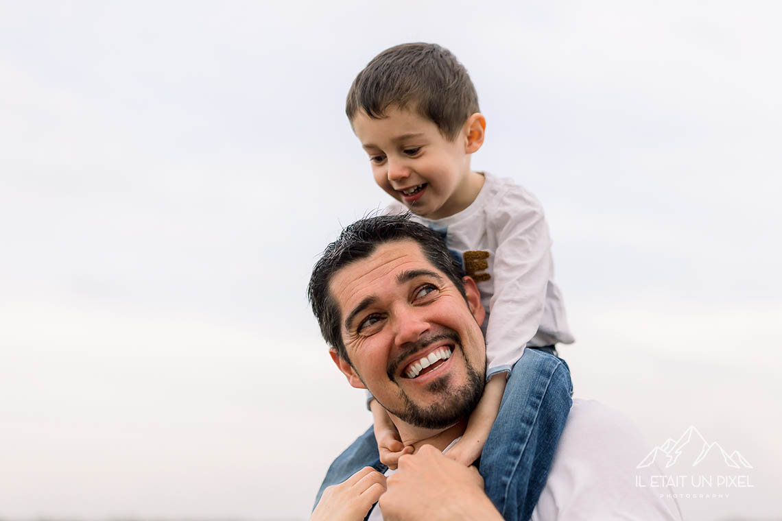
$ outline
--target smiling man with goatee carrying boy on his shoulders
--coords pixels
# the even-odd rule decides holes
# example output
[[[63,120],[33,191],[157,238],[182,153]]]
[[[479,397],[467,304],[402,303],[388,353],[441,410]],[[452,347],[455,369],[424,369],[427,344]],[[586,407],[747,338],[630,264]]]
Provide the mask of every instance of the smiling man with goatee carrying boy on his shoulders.
[[[312,519],[529,515],[515,496],[513,469],[484,469],[481,462],[479,474],[443,455],[464,432],[486,370],[485,311],[475,282],[459,269],[436,232],[404,216],[353,223],[317,262],[308,293],[332,360],[353,387],[368,388],[388,410],[413,453],[392,473],[379,463],[368,430],[332,464]],[[424,357],[431,364],[411,377],[411,364]],[[555,373],[561,362],[548,359]],[[513,404],[506,395],[498,430],[523,421]],[[496,446],[494,432],[482,457],[513,450]],[[532,519],[680,519],[675,501],[634,487],[643,452],[621,417],[576,401]]]

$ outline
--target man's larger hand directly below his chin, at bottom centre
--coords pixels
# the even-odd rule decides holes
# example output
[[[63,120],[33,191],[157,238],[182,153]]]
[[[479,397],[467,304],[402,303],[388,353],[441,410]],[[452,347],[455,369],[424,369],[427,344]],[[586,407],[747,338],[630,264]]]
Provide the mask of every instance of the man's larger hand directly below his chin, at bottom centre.
[[[483,478],[431,445],[399,459],[399,469],[386,481],[380,510],[386,521],[415,519],[481,519],[502,521],[483,492]]]

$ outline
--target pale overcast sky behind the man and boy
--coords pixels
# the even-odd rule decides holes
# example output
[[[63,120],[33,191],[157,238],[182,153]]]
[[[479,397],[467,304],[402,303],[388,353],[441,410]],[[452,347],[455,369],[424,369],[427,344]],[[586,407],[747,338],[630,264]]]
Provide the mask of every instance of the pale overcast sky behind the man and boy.
[[[306,519],[371,422],[304,289],[386,205],[343,113],[436,41],[547,209],[576,396],[782,516],[777,2],[0,2],[0,518]]]

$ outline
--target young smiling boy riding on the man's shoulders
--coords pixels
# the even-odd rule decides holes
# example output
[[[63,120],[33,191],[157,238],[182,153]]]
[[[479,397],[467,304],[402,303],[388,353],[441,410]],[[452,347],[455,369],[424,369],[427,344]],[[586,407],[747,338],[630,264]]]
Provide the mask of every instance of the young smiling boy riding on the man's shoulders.
[[[512,405],[523,406],[529,419],[522,422],[521,431],[515,426],[502,433],[496,427],[498,436],[508,437],[506,448],[521,446],[521,451],[529,449],[534,456],[522,457],[534,462],[529,469],[534,497],[528,498],[534,506],[572,394],[569,378],[567,384],[558,380],[558,385],[569,388],[547,389],[551,374],[537,369],[535,361],[540,357],[522,358],[525,348],[556,355],[554,344],[573,341],[553,280],[543,209],[511,180],[471,170],[470,157],[484,141],[486,120],[464,66],[439,45],[404,44],[381,52],[353,81],[346,113],[369,155],[375,182],[404,205],[395,203],[393,211],[406,207],[419,222],[443,234],[465,273],[478,284],[489,312],[483,323],[486,389],[465,434],[447,455],[465,465],[481,456],[508,382],[520,380],[518,385],[534,385],[547,393],[540,394],[543,398],[531,396],[530,403]],[[433,370],[437,362],[421,359],[408,368],[407,377]],[[511,370],[519,373],[518,379],[511,378]],[[506,407],[504,402],[502,406]],[[404,446],[386,410],[371,397],[370,409],[380,459],[396,468],[400,455],[411,448]],[[554,439],[540,439],[541,433]],[[503,446],[506,440],[501,441]],[[481,465],[486,459],[484,453]]]

